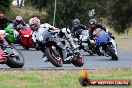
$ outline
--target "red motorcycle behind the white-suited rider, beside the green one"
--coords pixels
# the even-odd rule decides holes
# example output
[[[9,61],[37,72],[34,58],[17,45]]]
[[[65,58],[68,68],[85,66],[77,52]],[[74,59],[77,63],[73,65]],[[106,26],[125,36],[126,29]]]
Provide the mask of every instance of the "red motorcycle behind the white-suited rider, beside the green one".
[[[18,32],[20,34],[20,44],[24,47],[24,49],[33,48],[32,30],[30,29],[30,26],[26,24],[26,26],[21,27]]]

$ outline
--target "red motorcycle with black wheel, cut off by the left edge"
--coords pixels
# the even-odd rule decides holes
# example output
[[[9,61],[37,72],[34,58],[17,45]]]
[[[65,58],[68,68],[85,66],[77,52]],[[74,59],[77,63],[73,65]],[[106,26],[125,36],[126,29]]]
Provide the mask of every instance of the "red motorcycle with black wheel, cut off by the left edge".
[[[3,47],[3,44],[0,44],[0,64],[6,64],[11,68],[22,68],[24,57],[14,46]]]

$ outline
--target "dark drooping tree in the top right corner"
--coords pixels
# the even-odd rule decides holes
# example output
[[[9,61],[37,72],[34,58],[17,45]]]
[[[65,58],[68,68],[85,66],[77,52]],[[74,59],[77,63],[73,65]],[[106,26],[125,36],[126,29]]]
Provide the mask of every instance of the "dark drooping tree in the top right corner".
[[[108,12],[110,21],[114,30],[118,33],[124,33],[130,27],[132,22],[132,0],[109,0]]]

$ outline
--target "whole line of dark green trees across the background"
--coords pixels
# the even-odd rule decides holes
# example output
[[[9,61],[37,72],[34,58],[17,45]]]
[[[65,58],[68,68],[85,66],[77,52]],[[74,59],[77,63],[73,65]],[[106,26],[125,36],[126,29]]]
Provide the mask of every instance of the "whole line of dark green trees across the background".
[[[0,11],[9,9],[12,0],[0,0]],[[124,33],[132,22],[132,0],[57,0],[56,22],[58,27],[69,27],[72,20],[78,18],[87,25],[89,19],[108,19],[110,26],[120,34]],[[40,12],[46,9],[45,20],[53,23],[54,0],[25,0],[25,6],[32,6]],[[21,6],[21,5],[20,5]],[[94,11],[90,16],[90,11]]]

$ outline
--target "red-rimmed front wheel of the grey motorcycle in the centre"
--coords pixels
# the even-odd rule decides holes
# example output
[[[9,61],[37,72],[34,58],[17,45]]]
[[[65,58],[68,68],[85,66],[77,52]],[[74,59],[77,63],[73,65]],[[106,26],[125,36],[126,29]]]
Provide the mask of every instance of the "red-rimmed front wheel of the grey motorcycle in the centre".
[[[45,54],[48,60],[56,67],[62,67],[63,55],[59,47],[52,46],[45,49]]]

